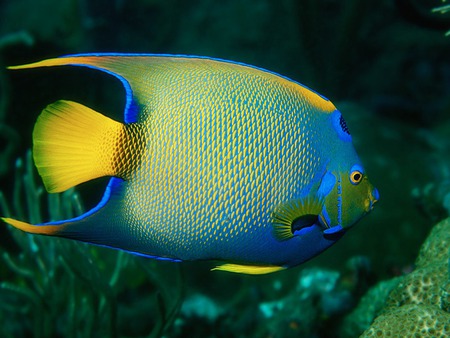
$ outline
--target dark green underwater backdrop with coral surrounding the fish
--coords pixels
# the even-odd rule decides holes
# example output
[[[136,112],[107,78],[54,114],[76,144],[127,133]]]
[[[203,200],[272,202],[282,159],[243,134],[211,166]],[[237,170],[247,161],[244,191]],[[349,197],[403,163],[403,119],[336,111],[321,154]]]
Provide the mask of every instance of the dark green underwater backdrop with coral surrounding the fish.
[[[192,54],[290,77],[342,112],[375,210],[336,245],[265,276],[210,272],[0,227],[2,337],[450,334],[450,12],[438,0],[0,1],[0,214],[64,219],[107,179],[47,195],[31,160],[58,99],[120,120],[119,81],[64,54]]]

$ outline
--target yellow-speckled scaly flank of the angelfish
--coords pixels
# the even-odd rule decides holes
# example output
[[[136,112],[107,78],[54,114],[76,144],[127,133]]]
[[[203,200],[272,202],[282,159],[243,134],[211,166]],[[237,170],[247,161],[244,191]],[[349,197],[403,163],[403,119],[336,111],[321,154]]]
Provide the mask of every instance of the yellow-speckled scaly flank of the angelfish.
[[[292,88],[204,69],[146,79],[158,90],[141,100],[148,145],[126,200],[161,248],[200,241],[207,254],[217,242],[267,237],[273,208],[321,177],[327,114]]]

